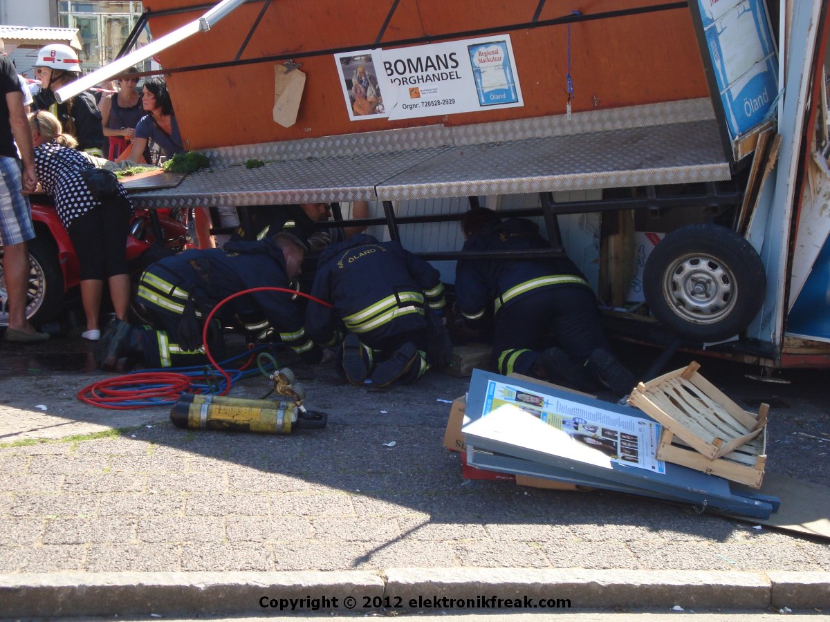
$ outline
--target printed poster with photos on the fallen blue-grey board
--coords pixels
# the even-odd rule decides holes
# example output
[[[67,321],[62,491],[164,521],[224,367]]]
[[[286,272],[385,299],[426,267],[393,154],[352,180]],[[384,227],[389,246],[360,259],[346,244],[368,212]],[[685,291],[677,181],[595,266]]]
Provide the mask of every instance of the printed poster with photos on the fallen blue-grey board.
[[[505,406],[533,415],[563,431],[568,442],[595,449],[612,462],[666,472],[663,461],[655,458],[661,426],[653,421],[488,381],[484,416]]]

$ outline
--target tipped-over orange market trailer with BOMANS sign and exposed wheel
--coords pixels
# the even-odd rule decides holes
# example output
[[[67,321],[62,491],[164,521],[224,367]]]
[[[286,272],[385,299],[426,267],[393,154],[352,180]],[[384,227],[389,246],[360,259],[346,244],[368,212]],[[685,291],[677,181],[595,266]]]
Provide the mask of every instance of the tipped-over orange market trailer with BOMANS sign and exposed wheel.
[[[540,219],[624,338],[830,366],[826,3],[144,7],[212,166],[140,207],[369,201],[449,282],[454,221],[495,207]]]

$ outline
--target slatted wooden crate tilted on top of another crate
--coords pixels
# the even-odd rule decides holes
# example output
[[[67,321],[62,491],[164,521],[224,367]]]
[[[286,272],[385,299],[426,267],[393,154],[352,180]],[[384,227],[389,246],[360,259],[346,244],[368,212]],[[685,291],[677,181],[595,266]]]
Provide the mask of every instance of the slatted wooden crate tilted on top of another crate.
[[[628,403],[657,420],[705,459],[723,458],[745,446],[757,449],[751,441],[763,436],[769,405],[761,404],[758,415],[743,410],[697,373],[700,367],[691,362],[686,369],[641,382]],[[666,446],[671,447],[671,441]]]

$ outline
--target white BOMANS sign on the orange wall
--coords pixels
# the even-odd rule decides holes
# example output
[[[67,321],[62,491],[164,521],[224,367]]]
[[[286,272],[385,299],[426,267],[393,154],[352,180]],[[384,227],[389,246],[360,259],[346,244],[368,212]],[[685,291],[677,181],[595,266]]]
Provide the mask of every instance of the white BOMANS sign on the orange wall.
[[[352,120],[416,119],[524,105],[509,35],[334,58]]]

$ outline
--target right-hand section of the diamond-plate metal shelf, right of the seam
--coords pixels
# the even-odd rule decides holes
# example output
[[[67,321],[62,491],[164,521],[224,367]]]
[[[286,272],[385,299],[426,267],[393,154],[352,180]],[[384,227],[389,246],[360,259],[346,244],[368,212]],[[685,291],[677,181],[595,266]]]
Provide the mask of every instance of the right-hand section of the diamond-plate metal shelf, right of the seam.
[[[378,199],[520,194],[730,178],[715,121],[448,149],[378,187]]]

